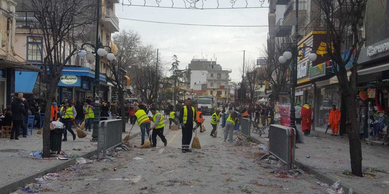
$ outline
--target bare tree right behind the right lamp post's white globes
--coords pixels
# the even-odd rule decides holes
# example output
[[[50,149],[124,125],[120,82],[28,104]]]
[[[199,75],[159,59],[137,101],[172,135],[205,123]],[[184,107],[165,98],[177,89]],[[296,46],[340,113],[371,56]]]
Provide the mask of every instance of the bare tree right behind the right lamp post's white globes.
[[[289,92],[288,69],[290,61],[281,64],[278,57],[282,55],[287,45],[286,37],[277,37],[274,42],[269,42],[259,49],[263,58],[266,59],[266,66],[259,69],[259,75],[262,80],[269,81],[272,87],[273,99],[276,99],[280,92]]]

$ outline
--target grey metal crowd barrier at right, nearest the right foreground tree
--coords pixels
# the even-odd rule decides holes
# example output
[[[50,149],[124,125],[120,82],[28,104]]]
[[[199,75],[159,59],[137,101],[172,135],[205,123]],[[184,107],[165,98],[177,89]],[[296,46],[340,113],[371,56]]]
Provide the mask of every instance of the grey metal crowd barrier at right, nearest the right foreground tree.
[[[269,127],[269,153],[261,159],[268,156],[275,156],[282,161],[287,170],[293,168],[294,152],[296,147],[296,130],[294,128],[282,125],[270,125]]]

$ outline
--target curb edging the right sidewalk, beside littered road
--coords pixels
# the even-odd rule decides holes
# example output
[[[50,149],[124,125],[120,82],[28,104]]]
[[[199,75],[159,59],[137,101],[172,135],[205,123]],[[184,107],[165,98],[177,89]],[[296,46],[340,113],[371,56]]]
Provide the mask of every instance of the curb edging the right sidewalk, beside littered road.
[[[256,142],[259,142],[260,144],[267,145],[268,141],[259,140],[257,137],[253,137],[253,136],[251,136],[251,137]],[[314,168],[311,168],[310,166],[305,165],[305,164],[303,164],[303,163],[301,163],[299,161],[294,160],[294,165],[296,165],[301,170],[304,170],[304,171],[308,172],[309,174],[315,175],[318,180],[321,180],[322,182],[324,182],[324,183],[326,183],[328,185],[333,185],[336,181],[338,181],[337,178],[329,176],[329,175],[326,175],[326,174],[322,174],[320,171],[315,170]],[[339,187],[343,187],[345,193],[348,193],[350,188],[351,188],[350,185],[345,184],[345,183],[340,183]],[[352,189],[352,193],[353,194],[364,194],[364,192],[359,191],[359,189]]]

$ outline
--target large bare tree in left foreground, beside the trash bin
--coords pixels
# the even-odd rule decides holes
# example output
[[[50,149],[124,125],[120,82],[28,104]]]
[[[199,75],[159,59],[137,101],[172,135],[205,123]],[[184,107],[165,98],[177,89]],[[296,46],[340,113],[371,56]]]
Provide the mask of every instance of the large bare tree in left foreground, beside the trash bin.
[[[96,3],[74,0],[30,0],[26,11],[33,12],[37,21],[32,34],[43,36],[43,73],[40,78],[46,83],[47,104],[51,104],[56,94],[63,66],[77,52],[77,44],[83,37],[84,29],[90,28],[96,18]],[[93,17],[95,16],[95,17]],[[71,45],[72,49],[65,48]],[[46,106],[50,113],[51,106]],[[43,130],[43,157],[50,155],[50,114],[45,115]]]

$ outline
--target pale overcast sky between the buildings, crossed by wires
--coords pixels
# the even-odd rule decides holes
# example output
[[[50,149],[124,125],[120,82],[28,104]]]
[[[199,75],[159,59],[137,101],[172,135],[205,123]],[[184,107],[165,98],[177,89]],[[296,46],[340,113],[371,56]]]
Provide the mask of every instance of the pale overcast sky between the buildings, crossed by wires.
[[[185,7],[184,0],[173,0],[174,7]],[[191,0],[185,0],[191,1]],[[204,0],[204,8],[216,8],[216,0]],[[247,0],[247,7],[259,7],[259,0]],[[219,8],[231,7],[230,0],[219,0]],[[124,0],[124,4],[129,4]],[[143,5],[144,0],[132,0],[133,5]],[[197,3],[197,7],[201,7]],[[146,5],[156,6],[155,0],[146,0]],[[172,0],[162,0],[160,6],[171,7]],[[189,7],[189,3],[186,4]],[[267,0],[264,7],[267,7]],[[246,7],[244,0],[236,0],[234,7]],[[267,25],[268,8],[253,9],[169,9],[154,7],[116,5],[116,16],[130,19],[161,21],[169,23],[214,24],[214,25]],[[262,47],[267,39],[267,27],[211,27],[211,26],[184,26],[176,24],[158,24],[140,21],[119,19],[119,28],[138,31],[145,43],[151,43],[159,50],[160,57],[170,61],[173,54],[178,56],[180,69],[184,69],[195,58],[214,60],[223,68],[232,69],[230,74],[233,81],[240,80],[241,73],[238,67],[245,57],[256,59],[258,47]],[[163,50],[165,49],[165,50]],[[166,50],[184,51],[172,52]],[[186,53],[200,52],[200,53]],[[201,54],[203,52],[203,54]],[[211,52],[211,53],[205,53]],[[215,53],[214,53],[215,52]],[[229,52],[229,53],[216,53]],[[251,54],[253,52],[255,54]]]

